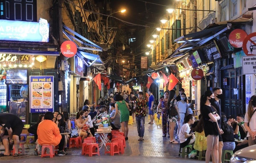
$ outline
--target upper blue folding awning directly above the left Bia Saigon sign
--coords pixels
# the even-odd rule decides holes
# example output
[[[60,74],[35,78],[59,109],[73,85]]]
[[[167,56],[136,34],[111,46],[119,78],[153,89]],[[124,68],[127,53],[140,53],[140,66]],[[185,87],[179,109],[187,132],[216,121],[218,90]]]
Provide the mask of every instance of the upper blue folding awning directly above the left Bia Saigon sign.
[[[85,37],[83,37],[82,35],[78,34],[75,31],[73,31],[72,29],[68,28],[64,24],[63,24],[62,32],[68,37],[69,40],[79,42],[82,45],[86,45],[86,47],[77,46],[78,49],[95,50],[95,51],[100,51],[100,52],[106,51],[109,49],[107,46],[104,46],[104,45],[96,43],[92,40],[86,39]],[[79,37],[80,39],[82,39],[83,41],[81,41],[80,39],[77,39],[75,36],[73,36],[73,34],[75,36]]]

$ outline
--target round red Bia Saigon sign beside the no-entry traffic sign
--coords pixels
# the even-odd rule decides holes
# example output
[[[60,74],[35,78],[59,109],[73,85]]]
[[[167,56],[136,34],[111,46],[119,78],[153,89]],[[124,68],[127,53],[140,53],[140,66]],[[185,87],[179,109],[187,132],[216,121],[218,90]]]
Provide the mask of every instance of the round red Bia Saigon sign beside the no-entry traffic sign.
[[[230,32],[228,36],[229,43],[236,47],[240,48],[243,46],[243,41],[246,38],[247,33],[242,29],[235,29],[232,32]]]

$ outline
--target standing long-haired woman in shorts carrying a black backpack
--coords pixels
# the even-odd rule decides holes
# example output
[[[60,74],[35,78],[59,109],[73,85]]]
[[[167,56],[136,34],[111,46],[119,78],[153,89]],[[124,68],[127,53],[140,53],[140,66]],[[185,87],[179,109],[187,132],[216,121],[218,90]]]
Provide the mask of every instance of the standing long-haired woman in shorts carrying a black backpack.
[[[178,112],[178,115],[176,115],[174,117],[172,117],[170,115],[170,113],[168,115],[168,121],[171,123],[170,127],[169,127],[169,135],[170,135],[170,143],[178,144],[178,142],[173,139],[173,131],[174,131],[175,125],[176,125],[177,121],[180,120],[180,114],[179,114],[179,110],[177,107],[177,100],[174,99],[174,95],[175,95],[175,90],[171,90],[169,92],[169,98],[167,101],[167,109],[169,110],[170,106],[174,105],[175,109]]]

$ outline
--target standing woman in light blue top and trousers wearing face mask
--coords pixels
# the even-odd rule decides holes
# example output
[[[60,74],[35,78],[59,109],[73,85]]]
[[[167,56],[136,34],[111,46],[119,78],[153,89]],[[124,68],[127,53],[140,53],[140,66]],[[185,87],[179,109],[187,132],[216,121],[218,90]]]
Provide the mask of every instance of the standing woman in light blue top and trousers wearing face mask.
[[[188,108],[188,104],[185,102],[185,99],[186,99],[186,94],[185,93],[180,94],[180,99],[181,100],[178,101],[178,103],[177,103],[178,110],[179,110],[179,113],[180,113],[180,120],[177,121],[177,125],[178,125],[177,137],[180,133],[180,129],[181,129],[181,126],[183,125],[185,114],[186,114],[186,111],[187,111],[187,108]],[[177,138],[177,139],[179,139],[179,138]]]

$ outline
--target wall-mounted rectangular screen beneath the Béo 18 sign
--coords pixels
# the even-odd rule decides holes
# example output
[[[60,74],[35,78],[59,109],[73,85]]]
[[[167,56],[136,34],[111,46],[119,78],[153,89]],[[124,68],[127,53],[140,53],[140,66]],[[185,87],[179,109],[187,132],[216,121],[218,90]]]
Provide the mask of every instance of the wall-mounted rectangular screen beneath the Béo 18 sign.
[[[28,70],[7,70],[6,84],[28,84]]]

